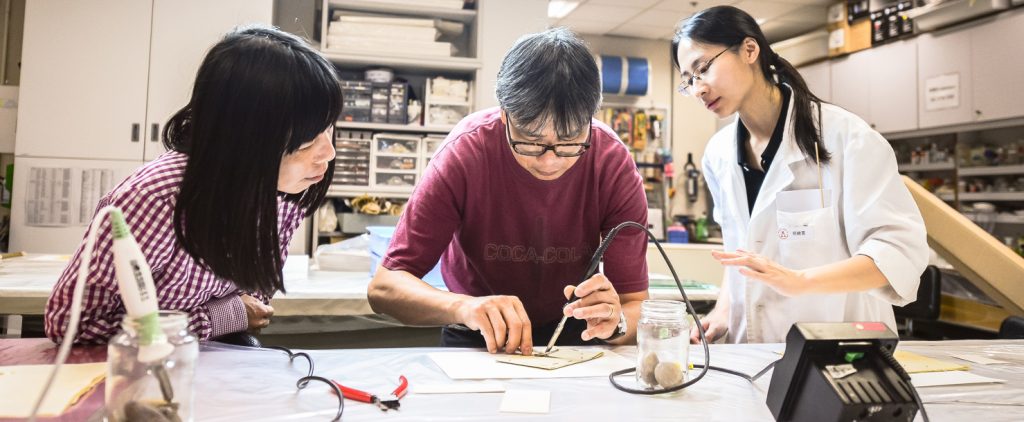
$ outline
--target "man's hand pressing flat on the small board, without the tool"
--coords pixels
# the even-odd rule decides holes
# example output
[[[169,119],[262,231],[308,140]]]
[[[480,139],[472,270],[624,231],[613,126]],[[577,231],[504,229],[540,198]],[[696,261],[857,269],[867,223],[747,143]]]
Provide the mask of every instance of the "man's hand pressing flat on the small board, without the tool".
[[[514,353],[516,349],[525,355],[534,353],[529,316],[518,297],[466,297],[457,303],[456,315],[470,330],[480,332],[492,353],[502,348],[506,353]]]

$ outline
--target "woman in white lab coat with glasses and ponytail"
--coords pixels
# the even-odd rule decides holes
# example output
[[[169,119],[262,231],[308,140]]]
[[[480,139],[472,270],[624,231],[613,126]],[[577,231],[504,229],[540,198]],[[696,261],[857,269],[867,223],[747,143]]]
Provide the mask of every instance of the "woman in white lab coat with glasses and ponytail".
[[[694,14],[672,45],[679,91],[738,115],[703,157],[726,266],[701,320],[709,340],[780,342],[797,322],[895,331],[892,306],[916,298],[928,245],[886,139],[811,93],[740,9]]]

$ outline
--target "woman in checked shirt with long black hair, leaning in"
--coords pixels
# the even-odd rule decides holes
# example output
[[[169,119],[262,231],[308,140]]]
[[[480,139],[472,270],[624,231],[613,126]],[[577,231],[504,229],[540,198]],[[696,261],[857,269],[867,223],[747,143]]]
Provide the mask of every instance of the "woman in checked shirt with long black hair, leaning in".
[[[191,99],[164,128],[168,152],[106,194],[153,267],[161,309],[189,315],[201,339],[255,331],[284,291],[287,246],[324,201],[334,174],[341,88],[303,40],[266,27],[227,34],[200,66]],[[77,343],[102,343],[125,313],[100,225]],[[71,319],[83,246],[46,303],[46,334]]]

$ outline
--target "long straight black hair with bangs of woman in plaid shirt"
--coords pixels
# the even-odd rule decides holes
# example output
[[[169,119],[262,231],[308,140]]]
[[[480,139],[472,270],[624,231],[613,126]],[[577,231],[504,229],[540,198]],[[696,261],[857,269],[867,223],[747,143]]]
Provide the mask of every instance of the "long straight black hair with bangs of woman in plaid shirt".
[[[285,290],[279,196],[312,214],[334,161],[321,182],[285,195],[282,157],[334,125],[341,103],[334,66],[294,35],[240,28],[210,49],[191,99],[163,133],[168,150],[188,156],[174,234],[197,262],[244,291]]]

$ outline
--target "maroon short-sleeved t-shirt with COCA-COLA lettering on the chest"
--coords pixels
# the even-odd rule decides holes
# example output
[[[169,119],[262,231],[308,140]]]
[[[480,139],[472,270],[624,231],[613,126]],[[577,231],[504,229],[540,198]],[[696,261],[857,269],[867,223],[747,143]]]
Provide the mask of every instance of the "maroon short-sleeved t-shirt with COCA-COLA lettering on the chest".
[[[512,156],[499,109],[463,119],[437,150],[383,259],[423,278],[438,257],[449,290],[517,296],[534,325],[561,318],[562,289],[581,282],[601,238],[647,225],[643,181],[614,132],[594,121],[592,146],[556,180]],[[620,293],[647,289],[647,238],[625,228],[604,254]]]

